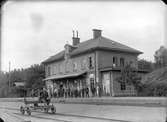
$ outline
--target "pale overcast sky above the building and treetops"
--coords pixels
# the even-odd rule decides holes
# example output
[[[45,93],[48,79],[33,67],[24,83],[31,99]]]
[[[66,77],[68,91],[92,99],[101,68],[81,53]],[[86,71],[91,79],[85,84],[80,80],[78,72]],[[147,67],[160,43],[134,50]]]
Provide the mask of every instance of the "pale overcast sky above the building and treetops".
[[[143,52],[141,59],[154,61],[154,53],[166,42],[161,1],[8,1],[2,8],[2,71],[40,64],[72,43],[72,30],[82,41],[92,29],[104,37]]]

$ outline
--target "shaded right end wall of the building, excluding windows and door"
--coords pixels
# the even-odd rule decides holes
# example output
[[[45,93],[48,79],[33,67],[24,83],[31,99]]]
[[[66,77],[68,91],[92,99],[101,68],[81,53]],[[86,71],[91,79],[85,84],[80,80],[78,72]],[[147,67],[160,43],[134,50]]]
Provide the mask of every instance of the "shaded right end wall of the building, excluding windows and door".
[[[120,66],[120,58],[124,58],[125,65],[133,61],[132,66],[137,66],[137,55],[129,54],[129,53],[121,53],[121,52],[112,52],[112,51],[97,51],[98,52],[98,67],[99,69],[109,68],[113,66],[113,57],[118,58],[118,67]],[[102,83],[102,72],[99,72],[99,82]],[[126,90],[121,90],[120,83],[116,81],[116,79],[120,76],[120,72],[110,71],[111,80],[110,87],[112,96],[125,96],[125,95],[136,95],[136,91],[134,90],[134,86],[126,85]],[[112,86],[113,85],[113,86]],[[113,90],[112,90],[113,88]]]

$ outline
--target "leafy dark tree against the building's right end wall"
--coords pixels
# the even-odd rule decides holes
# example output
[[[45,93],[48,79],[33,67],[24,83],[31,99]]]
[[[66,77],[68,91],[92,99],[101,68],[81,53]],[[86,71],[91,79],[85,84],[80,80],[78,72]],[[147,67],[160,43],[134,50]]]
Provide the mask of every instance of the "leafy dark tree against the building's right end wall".
[[[131,67],[130,64],[122,68],[118,82],[126,82],[129,85],[133,85],[138,93],[141,92],[143,88],[141,77],[139,77],[137,70]]]

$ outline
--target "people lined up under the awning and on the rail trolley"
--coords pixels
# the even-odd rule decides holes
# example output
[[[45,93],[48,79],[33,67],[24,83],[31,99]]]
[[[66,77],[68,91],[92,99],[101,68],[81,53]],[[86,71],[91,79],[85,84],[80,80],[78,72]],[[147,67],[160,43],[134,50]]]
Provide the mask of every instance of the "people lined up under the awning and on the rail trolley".
[[[33,92],[34,93],[34,92]],[[40,91],[38,91],[39,100],[41,102],[47,102],[50,103],[51,97],[55,98],[85,98],[85,97],[95,97],[95,96],[101,96],[100,88],[95,85],[90,84],[90,87],[65,87],[65,85],[61,84],[59,87],[55,87],[51,90],[51,88],[42,88]],[[34,96],[34,95],[33,95]]]

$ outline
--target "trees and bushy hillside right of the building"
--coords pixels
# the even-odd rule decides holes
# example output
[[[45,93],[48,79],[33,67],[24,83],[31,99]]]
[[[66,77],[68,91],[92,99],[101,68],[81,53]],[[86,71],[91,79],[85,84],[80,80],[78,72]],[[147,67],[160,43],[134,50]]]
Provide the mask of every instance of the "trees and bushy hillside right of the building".
[[[154,58],[154,63],[138,60],[138,70],[149,72],[142,79],[138,76],[137,69],[127,65],[122,69],[118,81],[133,84],[138,96],[167,96],[167,49],[161,46]]]

